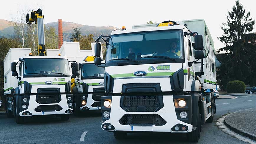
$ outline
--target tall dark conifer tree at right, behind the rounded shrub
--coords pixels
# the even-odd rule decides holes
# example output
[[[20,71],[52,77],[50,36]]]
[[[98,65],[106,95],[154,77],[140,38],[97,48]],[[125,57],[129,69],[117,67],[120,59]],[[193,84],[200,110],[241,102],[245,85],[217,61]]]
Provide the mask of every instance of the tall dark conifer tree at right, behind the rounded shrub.
[[[221,27],[224,34],[219,37],[219,40],[226,45],[220,48],[219,52],[225,53],[216,55],[221,62],[217,71],[219,86],[225,89],[227,82],[231,80],[240,80],[246,84],[255,85],[256,82],[252,79],[256,79],[256,71],[254,71],[256,48],[248,42],[254,41],[256,36],[252,34],[250,39],[247,36],[247,33],[253,30],[255,21],[250,17],[250,11],[246,13],[238,0],[226,18],[227,23],[223,23]]]

